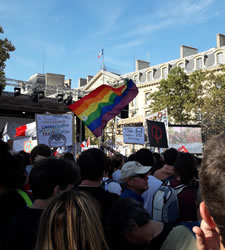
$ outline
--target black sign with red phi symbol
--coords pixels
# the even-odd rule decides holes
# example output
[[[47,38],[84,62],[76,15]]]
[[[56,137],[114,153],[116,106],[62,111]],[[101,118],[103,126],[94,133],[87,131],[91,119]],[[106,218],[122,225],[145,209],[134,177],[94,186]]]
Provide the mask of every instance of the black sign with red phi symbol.
[[[147,120],[147,126],[150,146],[168,148],[165,123]]]

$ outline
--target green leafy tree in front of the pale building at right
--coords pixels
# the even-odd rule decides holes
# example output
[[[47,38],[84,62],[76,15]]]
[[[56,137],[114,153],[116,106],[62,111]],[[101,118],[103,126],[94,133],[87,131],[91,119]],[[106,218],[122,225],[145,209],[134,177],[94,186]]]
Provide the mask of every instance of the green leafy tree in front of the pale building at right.
[[[190,75],[174,68],[150,98],[152,112],[167,107],[170,123],[199,124],[207,140],[225,128],[225,66]]]

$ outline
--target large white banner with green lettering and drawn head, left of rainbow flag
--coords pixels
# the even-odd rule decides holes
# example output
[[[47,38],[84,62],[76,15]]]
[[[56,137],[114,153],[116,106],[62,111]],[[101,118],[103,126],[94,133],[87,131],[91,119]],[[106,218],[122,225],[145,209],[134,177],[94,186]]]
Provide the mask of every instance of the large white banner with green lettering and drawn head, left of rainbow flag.
[[[38,144],[50,148],[73,145],[72,113],[62,115],[36,115]]]

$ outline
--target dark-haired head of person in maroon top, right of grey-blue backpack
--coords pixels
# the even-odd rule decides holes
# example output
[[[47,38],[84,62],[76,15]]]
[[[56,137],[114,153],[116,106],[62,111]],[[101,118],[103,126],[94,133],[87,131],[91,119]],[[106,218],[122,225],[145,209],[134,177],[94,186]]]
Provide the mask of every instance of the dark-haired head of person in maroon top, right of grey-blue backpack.
[[[194,156],[190,153],[179,152],[174,163],[174,171],[183,184],[192,184],[197,176],[197,164]]]

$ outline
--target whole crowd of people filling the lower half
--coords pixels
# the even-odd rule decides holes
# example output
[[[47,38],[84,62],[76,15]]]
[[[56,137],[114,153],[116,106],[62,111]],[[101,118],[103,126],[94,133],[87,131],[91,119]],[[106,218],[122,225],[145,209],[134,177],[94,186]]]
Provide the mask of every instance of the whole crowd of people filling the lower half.
[[[12,153],[2,140],[0,159],[0,249],[225,249],[225,135],[202,161],[174,148]]]

